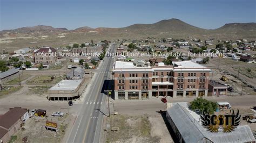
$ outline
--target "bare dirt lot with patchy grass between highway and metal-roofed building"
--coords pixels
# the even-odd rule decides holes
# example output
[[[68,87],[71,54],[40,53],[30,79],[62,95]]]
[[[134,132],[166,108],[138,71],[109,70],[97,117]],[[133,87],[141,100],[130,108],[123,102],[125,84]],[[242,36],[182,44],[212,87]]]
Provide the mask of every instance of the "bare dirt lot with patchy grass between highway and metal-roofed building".
[[[160,114],[128,116],[113,115],[107,118],[106,142],[173,142]],[[119,127],[113,132],[112,127]]]

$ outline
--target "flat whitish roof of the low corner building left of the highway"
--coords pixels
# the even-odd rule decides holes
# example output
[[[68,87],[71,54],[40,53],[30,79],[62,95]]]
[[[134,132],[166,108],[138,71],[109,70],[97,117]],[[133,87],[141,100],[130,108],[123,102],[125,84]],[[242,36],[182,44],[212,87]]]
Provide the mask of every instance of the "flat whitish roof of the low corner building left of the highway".
[[[62,80],[49,90],[75,90],[83,80]]]

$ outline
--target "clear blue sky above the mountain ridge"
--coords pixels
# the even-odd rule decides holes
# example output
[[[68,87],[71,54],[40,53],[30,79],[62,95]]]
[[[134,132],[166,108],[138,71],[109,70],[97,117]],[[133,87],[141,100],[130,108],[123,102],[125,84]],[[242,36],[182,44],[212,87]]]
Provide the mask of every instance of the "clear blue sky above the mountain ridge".
[[[201,28],[256,22],[256,0],[0,0],[0,30],[50,25],[125,27],[178,18]]]

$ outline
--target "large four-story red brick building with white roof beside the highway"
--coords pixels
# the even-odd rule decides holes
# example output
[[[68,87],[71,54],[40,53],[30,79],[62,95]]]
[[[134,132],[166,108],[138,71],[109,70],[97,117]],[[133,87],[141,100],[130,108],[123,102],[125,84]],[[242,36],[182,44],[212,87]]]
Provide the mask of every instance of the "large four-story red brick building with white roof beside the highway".
[[[132,62],[116,61],[113,67],[114,99],[142,99],[152,96],[207,96],[211,69],[192,61],[165,66],[136,67]]]

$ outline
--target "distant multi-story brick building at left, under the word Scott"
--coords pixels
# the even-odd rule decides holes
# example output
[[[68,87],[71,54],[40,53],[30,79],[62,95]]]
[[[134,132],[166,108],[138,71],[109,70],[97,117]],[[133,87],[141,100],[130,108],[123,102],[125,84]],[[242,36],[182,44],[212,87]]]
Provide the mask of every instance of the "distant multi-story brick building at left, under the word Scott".
[[[56,54],[55,54],[56,53]],[[44,47],[34,52],[35,63],[55,63],[57,61],[57,50],[52,47]]]

